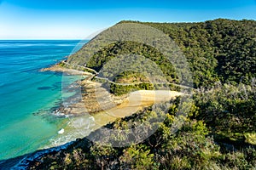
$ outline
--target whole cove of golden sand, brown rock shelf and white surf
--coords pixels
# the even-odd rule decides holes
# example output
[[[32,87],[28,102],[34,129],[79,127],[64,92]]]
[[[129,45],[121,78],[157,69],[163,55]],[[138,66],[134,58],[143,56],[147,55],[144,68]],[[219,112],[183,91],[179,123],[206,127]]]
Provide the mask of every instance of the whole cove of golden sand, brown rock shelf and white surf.
[[[63,127],[55,138],[50,139],[49,145],[41,149],[56,147],[84,138],[96,129],[114,122],[117,118],[131,116],[137,111],[142,111],[145,107],[166,102],[182,95],[180,92],[171,90],[138,90],[119,97],[102,88],[102,83],[90,81],[88,77],[91,77],[92,74],[88,72],[67,69],[58,65],[43,71],[61,71],[67,75],[87,75],[87,78],[84,77],[79,80],[76,82],[78,84],[74,86],[80,86],[80,88],[73,90],[77,91],[79,95],[75,94],[70,97],[71,99],[67,99],[76,102],[69,102],[71,105],[66,107],[61,105],[55,111],[57,116],[68,117],[67,126]],[[85,95],[80,92],[81,89],[85,91]]]

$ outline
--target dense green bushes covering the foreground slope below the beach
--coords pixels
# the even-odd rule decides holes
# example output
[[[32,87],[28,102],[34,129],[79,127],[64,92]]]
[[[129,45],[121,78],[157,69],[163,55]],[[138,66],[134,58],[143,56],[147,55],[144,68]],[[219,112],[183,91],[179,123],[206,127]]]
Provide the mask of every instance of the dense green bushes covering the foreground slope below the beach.
[[[119,130],[111,137],[126,140],[122,130],[164,116],[163,122],[148,123],[158,130],[140,144],[114,148],[108,143],[79,139],[67,149],[50,153],[31,168],[38,169],[253,169],[256,164],[255,84],[235,87],[216,84],[195,94],[183,127],[170,133],[179,109],[179,99],[170,102],[168,113],[156,113],[152,107],[118,119],[106,127]],[[145,129],[147,130],[147,129]],[[105,128],[91,133],[104,136]],[[138,138],[142,132],[135,133]],[[144,132],[145,133],[145,132]],[[106,140],[107,141],[107,140]]]

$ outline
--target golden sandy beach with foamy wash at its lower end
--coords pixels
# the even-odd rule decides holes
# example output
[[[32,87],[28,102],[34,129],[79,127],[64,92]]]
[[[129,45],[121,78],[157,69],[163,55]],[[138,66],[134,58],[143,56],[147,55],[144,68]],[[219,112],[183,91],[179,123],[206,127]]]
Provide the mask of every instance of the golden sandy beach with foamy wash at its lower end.
[[[67,127],[64,127],[63,130],[61,129],[63,133],[51,139],[51,144],[47,145],[45,148],[66,144],[69,141],[83,138],[96,129],[114,122],[117,118],[131,116],[137,111],[142,111],[144,107],[169,101],[180,95],[182,95],[182,93],[168,90],[139,90],[132,92],[127,98],[123,99],[119,105],[114,105],[108,110],[93,114],[87,113],[71,116]],[[101,104],[96,105],[99,106]],[[79,102],[76,106],[75,109],[71,110],[72,112],[88,111],[86,105],[83,105],[83,102]]]

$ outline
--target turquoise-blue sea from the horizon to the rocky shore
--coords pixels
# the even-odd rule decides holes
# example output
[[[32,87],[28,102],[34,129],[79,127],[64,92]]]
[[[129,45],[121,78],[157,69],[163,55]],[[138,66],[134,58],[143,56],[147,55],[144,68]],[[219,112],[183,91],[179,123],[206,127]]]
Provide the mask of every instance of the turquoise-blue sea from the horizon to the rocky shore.
[[[50,110],[61,102],[61,73],[39,70],[83,44],[0,41],[0,160],[38,150],[65,126],[64,118],[51,116]]]

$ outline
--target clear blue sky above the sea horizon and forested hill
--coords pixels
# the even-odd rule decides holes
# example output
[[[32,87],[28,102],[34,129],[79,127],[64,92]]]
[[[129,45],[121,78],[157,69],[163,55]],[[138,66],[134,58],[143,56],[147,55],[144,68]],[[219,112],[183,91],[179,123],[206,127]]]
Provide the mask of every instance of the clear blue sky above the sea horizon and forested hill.
[[[255,0],[0,0],[0,39],[84,39],[120,20],[256,20]]]

